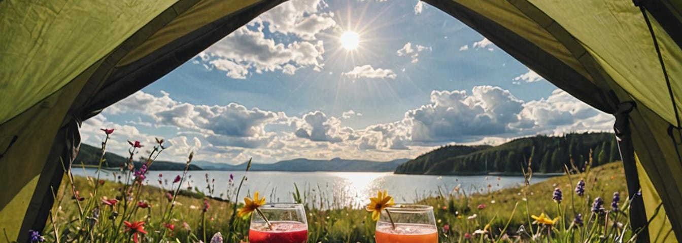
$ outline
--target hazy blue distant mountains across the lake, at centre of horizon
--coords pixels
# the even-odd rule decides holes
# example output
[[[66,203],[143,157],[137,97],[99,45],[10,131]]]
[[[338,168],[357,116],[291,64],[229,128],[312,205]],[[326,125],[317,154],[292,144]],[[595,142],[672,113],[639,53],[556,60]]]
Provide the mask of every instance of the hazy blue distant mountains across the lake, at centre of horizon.
[[[364,161],[353,159],[334,158],[329,160],[316,159],[292,159],[277,163],[252,163],[251,171],[282,171],[282,172],[392,172],[398,165],[409,159],[396,159],[393,161]],[[244,170],[246,163],[240,165],[228,165],[224,163],[212,163],[197,161],[196,165],[210,170]]]

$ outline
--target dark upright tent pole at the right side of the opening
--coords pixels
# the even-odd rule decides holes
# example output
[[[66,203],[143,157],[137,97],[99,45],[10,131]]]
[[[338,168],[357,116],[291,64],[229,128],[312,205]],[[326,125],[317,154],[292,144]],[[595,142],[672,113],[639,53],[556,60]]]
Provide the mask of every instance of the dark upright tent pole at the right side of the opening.
[[[623,169],[625,170],[627,196],[629,199],[632,199],[629,208],[630,225],[632,225],[633,231],[642,229],[642,232],[637,238],[638,242],[649,242],[647,212],[644,209],[644,200],[640,193],[641,187],[635,162],[634,145],[632,144],[632,130],[629,125],[629,112],[632,112],[634,108],[635,105],[632,101],[620,103],[618,105],[618,111],[615,114],[616,123],[614,123],[613,129],[616,133],[618,149],[621,153]]]

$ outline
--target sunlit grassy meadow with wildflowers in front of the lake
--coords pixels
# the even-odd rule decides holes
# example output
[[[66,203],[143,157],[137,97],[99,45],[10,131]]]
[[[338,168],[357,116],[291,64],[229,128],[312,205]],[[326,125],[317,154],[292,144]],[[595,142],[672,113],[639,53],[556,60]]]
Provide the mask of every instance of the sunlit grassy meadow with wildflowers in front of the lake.
[[[486,190],[471,192],[459,188],[440,189],[441,195],[422,199],[417,203],[434,207],[441,242],[546,241],[542,238],[548,237],[547,233],[539,233],[539,231],[553,231],[552,234],[556,235],[555,241],[559,238],[563,239],[559,242],[575,241],[594,235],[595,227],[576,227],[575,230],[570,231],[572,233],[565,233],[569,231],[562,230],[571,226],[577,213],[585,215],[583,220],[587,223],[591,215],[589,209],[595,197],[604,198],[606,201],[604,208],[610,208],[614,192],[620,192],[626,198],[623,174],[621,163],[614,162],[592,168],[589,173],[574,174],[570,178],[558,176],[529,187],[491,192]],[[93,177],[96,178],[96,176]],[[133,186],[132,189],[127,189],[132,192],[128,194],[130,198],[127,200],[132,201],[128,203],[132,206],[126,206],[123,203],[125,200],[114,206],[108,206],[103,204],[102,199],[117,197],[119,200],[123,199],[120,195],[122,195],[121,191],[126,191],[126,186],[110,181],[103,184],[96,183],[95,178],[74,177],[73,191],[78,191],[78,197],[83,197],[83,201],[74,199],[70,181],[65,179],[57,193],[58,203],[53,208],[51,220],[42,231],[46,240],[56,242],[55,236],[59,236],[59,242],[80,242],[87,241],[87,238],[93,242],[106,242],[107,240],[104,239],[131,240],[130,233],[125,231],[125,225],[120,226],[125,219],[131,222],[145,222],[147,234],[139,234],[139,242],[175,241],[176,239],[180,242],[198,242],[198,240],[207,242],[216,232],[221,232],[226,242],[248,241],[249,218],[235,217],[233,227],[230,229],[230,220],[235,205],[228,200],[205,197],[201,190],[200,192],[180,190],[175,197],[175,205],[172,210],[168,210],[175,188],[171,189],[160,183],[161,187],[166,188],[162,189],[157,185],[157,187],[142,186],[138,189]],[[153,183],[155,179],[149,178],[148,180]],[[491,176],[488,179],[490,188],[494,188],[497,178]],[[587,192],[583,197],[578,197],[573,192],[576,182],[580,179],[587,182]],[[99,184],[96,193],[98,198],[88,198],[95,195],[93,192],[95,184]],[[239,178],[231,182],[230,187],[233,189],[231,199],[236,198],[238,184]],[[552,200],[555,188],[563,191],[561,204]],[[170,197],[167,193],[170,193]],[[321,204],[329,204],[321,199],[323,197],[316,197],[319,192],[293,193],[302,195],[294,201],[307,205],[308,242],[374,242],[374,221],[365,210],[350,207],[319,210]],[[244,196],[246,196],[245,192],[240,193],[239,200],[241,201]],[[140,208],[134,203],[136,201],[150,206]],[[205,201],[209,207],[204,212]],[[627,199],[623,199],[619,206],[626,204],[626,201]],[[561,213],[558,210],[561,210]],[[81,211],[83,214],[80,214]],[[530,216],[543,212],[551,218],[561,214],[562,218],[554,227],[532,224],[533,219]],[[617,235],[622,232],[621,228],[627,229],[627,216],[622,212],[612,214],[610,218],[611,226],[604,227],[604,229],[597,227],[595,237],[604,235],[599,232]],[[490,227],[486,227],[488,224]],[[170,229],[170,225],[173,225],[173,229]],[[475,234],[477,230],[479,233]],[[480,233],[481,230],[486,233]],[[625,239],[628,239],[629,235],[632,235],[632,232],[627,230],[623,234],[627,237]]]

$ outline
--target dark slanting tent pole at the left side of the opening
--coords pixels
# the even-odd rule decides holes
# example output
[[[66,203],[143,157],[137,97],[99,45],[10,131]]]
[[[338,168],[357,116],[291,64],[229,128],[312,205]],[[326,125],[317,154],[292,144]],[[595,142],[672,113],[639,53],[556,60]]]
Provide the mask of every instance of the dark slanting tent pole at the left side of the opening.
[[[30,242],[29,230],[41,231],[45,228],[47,219],[52,210],[55,193],[64,175],[63,168],[70,168],[73,159],[76,158],[80,146],[80,119],[68,117],[68,123],[62,126],[53,142],[47,161],[40,172],[38,185],[35,187],[33,197],[26,210],[24,221],[21,224],[17,242]]]

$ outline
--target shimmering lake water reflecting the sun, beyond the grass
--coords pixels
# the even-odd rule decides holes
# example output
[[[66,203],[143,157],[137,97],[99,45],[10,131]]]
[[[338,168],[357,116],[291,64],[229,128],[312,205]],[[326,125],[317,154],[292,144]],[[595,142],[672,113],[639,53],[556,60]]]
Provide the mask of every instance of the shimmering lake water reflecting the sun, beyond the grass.
[[[77,176],[95,175],[95,169],[74,168]],[[120,174],[120,173],[119,173]],[[117,174],[117,176],[119,175]],[[158,182],[162,174],[162,185]],[[182,172],[178,171],[150,171],[146,184],[168,189],[170,182]],[[230,175],[234,180],[230,181]],[[208,175],[209,183],[207,183]],[[188,180],[183,187],[197,187],[207,192],[207,184],[214,186],[213,196],[224,199],[235,199],[235,192],[244,172],[227,171],[190,171]],[[112,172],[102,171],[102,178],[115,180]],[[215,179],[215,182],[213,182]],[[533,182],[540,182],[545,178],[533,178]],[[397,203],[410,203],[428,196],[446,195],[455,188],[473,193],[474,191],[487,193],[506,187],[516,187],[523,184],[522,176],[426,176],[404,175],[392,172],[248,172],[239,195],[243,200],[246,193],[252,195],[260,191],[267,197],[268,202],[291,202],[292,193],[297,185],[301,197],[308,204],[315,204],[321,208],[341,208],[353,206],[361,208],[368,203],[370,196],[376,196],[376,191],[387,190],[393,195]],[[490,186],[489,186],[490,185]],[[207,193],[208,194],[208,193]],[[228,198],[228,196],[230,198]]]

